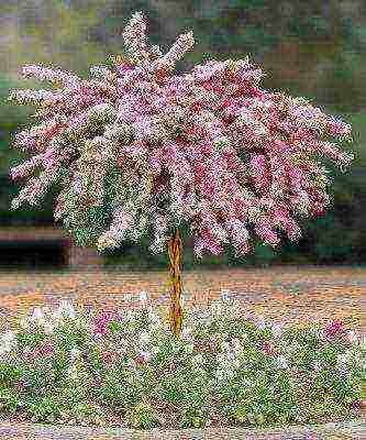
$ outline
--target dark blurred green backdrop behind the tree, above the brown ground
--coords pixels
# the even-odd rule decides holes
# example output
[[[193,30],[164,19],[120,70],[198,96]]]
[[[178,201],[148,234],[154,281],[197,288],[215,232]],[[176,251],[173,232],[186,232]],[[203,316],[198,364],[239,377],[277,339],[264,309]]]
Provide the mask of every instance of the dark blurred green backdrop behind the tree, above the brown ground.
[[[276,265],[364,265],[366,262],[366,2],[364,0],[0,0],[0,267],[65,270],[86,262],[104,270],[162,270],[167,255],[152,255],[147,239],[125,243],[98,256],[76,249],[53,221],[54,194],[37,208],[10,210],[19,184],[9,168],[26,154],[11,147],[15,132],[30,127],[33,108],[10,106],[12,88],[44,88],[20,81],[26,63],[62,67],[87,77],[90,65],[123,54],[121,32],[132,12],[142,10],[152,44],[168,50],[176,36],[192,30],[193,51],[178,73],[214,59],[252,61],[267,73],[262,87],[313,100],[325,112],[353,125],[355,161],[334,179],[333,204],[317,220],[302,222],[303,238],[278,251],[258,245],[245,258],[228,249],[220,257],[193,257],[184,230],[184,267]]]

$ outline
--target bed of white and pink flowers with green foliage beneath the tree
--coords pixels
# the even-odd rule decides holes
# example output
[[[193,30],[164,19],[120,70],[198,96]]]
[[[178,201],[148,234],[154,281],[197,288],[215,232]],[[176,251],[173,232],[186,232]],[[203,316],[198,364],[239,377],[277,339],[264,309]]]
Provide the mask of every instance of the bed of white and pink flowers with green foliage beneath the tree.
[[[185,310],[180,341],[147,305],[35,308],[2,333],[3,420],[137,429],[358,418],[365,343],[340,321],[279,326],[229,297]]]

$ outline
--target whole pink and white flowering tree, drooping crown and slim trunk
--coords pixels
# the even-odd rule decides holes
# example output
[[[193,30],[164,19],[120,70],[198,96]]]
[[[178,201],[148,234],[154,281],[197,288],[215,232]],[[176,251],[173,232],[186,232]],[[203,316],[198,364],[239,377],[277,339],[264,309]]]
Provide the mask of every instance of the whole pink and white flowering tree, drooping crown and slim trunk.
[[[24,77],[54,90],[13,90],[11,100],[37,106],[40,124],[16,134],[34,153],[11,169],[31,177],[12,201],[37,202],[59,184],[55,220],[77,243],[99,250],[152,234],[149,250],[168,246],[171,330],[181,329],[181,238],[186,221],[195,253],[236,255],[255,240],[278,246],[279,231],[296,241],[296,218],[315,217],[330,205],[328,170],[318,155],[341,167],[353,155],[332,138],[351,139],[351,127],[303,98],[258,87],[263,77],[246,57],[209,61],[174,75],[193,46],[191,32],[163,54],[148,46],[141,12],[124,30],[126,58],[90,69],[92,79],[41,66]],[[243,153],[246,158],[243,160]]]

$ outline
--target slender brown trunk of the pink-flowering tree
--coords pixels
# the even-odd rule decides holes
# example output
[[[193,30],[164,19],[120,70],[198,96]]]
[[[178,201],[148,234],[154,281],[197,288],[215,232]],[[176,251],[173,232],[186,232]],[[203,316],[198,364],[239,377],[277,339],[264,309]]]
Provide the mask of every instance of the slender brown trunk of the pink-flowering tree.
[[[168,242],[169,271],[170,271],[170,330],[179,338],[181,333],[182,312],[180,296],[182,292],[181,283],[181,250],[182,241],[179,229],[176,229],[175,235]]]

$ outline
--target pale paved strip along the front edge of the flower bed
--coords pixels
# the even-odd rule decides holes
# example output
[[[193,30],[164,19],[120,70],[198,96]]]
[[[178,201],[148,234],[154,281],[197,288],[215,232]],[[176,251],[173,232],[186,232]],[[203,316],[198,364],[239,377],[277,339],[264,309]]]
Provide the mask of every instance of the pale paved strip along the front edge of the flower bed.
[[[84,427],[53,427],[42,425],[0,425],[0,439],[16,440],[363,440],[365,422],[328,424],[318,427],[288,427],[286,429],[182,429],[153,430],[102,429]]]

